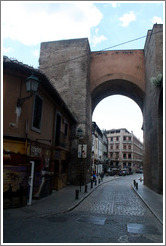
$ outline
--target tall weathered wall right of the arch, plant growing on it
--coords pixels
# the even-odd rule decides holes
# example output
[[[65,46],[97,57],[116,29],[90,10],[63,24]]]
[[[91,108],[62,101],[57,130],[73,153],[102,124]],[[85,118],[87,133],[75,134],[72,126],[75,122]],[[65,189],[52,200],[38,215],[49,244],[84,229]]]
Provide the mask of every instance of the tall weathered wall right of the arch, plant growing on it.
[[[156,24],[148,32],[144,48],[146,96],[143,112],[144,184],[156,192],[162,192],[162,87],[151,83],[151,78],[163,74],[162,42],[162,25]]]

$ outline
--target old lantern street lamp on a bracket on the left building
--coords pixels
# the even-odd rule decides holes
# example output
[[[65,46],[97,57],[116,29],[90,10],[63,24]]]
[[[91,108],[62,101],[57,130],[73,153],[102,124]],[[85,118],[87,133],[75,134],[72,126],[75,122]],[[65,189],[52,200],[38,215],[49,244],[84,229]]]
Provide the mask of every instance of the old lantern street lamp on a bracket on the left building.
[[[25,100],[31,98],[33,94],[37,92],[38,85],[39,85],[39,79],[36,76],[31,75],[25,80],[25,84],[26,84],[27,92],[30,92],[31,94],[27,97],[18,98],[17,107],[22,107]]]

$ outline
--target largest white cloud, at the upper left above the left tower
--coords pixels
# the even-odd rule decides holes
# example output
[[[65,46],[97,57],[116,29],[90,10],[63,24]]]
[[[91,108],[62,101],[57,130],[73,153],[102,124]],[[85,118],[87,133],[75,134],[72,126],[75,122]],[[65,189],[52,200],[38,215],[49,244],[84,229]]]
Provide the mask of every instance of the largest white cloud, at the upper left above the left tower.
[[[102,14],[91,2],[3,1],[2,37],[26,45],[43,41],[90,37]]]

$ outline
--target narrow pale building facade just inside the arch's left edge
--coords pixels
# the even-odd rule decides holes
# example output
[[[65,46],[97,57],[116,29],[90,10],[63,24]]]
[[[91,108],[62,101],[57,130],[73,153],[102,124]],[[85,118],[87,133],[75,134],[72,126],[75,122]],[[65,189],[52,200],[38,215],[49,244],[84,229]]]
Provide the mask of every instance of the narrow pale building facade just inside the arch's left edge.
[[[92,171],[100,174],[108,160],[108,141],[104,131],[101,131],[96,122],[92,122]]]

